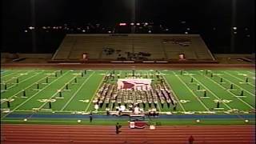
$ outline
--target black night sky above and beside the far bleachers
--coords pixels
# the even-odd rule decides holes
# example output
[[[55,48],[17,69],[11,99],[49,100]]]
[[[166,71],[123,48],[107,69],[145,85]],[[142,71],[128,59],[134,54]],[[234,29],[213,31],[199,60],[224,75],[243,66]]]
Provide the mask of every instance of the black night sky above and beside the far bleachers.
[[[34,0],[34,20],[31,1],[1,1],[2,52],[54,53],[66,32],[46,32],[37,27],[89,22],[114,27],[119,22],[131,22],[134,0]],[[192,34],[202,35],[214,53],[254,53],[254,0],[136,0],[135,14],[136,22],[154,22],[155,27],[161,24],[170,34],[184,34],[190,27]],[[33,32],[24,32],[29,26],[36,27],[35,48]],[[237,34],[233,26],[238,28]]]

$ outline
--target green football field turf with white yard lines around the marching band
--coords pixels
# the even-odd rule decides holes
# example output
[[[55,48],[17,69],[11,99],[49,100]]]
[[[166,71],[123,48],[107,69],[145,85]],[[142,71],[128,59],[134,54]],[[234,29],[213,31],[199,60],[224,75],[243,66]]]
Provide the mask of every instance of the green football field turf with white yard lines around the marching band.
[[[10,114],[88,114],[94,111],[94,96],[111,71],[86,70],[85,74],[84,70],[2,70],[1,120],[15,120],[8,118]],[[178,101],[177,110],[166,103],[161,106],[159,102],[156,108],[160,114],[254,114],[254,70],[158,72]],[[131,70],[115,70],[115,73],[125,78]],[[140,74],[140,78],[153,75],[154,82],[159,81],[155,70],[135,70],[135,73]],[[114,77],[110,83],[116,83],[117,79]],[[61,96],[58,90],[62,91]],[[110,109],[113,104],[110,102]],[[103,105],[99,114],[106,114],[105,110]]]

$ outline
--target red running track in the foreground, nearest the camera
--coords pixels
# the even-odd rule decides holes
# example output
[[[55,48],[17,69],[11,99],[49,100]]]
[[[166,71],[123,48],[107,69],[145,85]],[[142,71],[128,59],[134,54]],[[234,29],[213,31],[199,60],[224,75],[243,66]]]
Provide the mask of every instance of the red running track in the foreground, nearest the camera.
[[[254,126],[157,126],[132,130],[122,126],[7,125],[1,127],[1,143],[255,143]]]

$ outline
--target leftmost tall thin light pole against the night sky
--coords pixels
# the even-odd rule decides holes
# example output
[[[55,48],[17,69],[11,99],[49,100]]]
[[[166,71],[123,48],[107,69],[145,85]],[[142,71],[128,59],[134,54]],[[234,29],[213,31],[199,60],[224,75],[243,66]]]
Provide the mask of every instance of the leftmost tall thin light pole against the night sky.
[[[30,17],[31,17],[31,26],[35,27],[35,0],[30,0]],[[31,30],[32,33],[32,52],[37,52],[37,41],[36,41],[36,29]]]

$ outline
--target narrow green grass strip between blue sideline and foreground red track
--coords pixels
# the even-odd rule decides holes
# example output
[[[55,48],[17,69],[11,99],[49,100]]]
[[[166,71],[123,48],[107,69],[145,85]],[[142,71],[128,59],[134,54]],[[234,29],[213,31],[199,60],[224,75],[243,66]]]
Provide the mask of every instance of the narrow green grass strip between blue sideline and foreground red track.
[[[60,120],[60,119],[30,119],[24,121],[21,119],[2,120],[2,123],[8,124],[53,124],[53,125],[96,125],[96,126],[114,126],[116,123],[120,123],[122,126],[128,126],[127,119],[95,119],[93,122],[89,122],[88,119],[78,122],[78,120]],[[196,119],[154,119],[146,121],[154,123],[156,126],[205,126],[205,125],[255,125],[255,119],[250,119],[248,122],[240,119],[202,119],[199,122]]]

